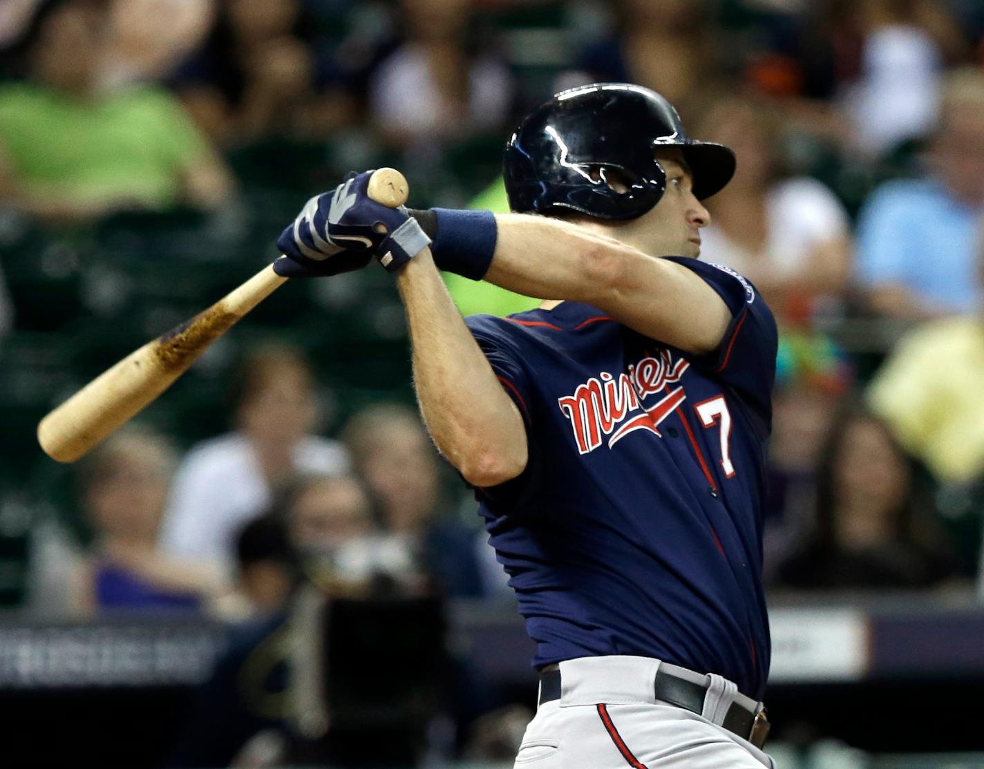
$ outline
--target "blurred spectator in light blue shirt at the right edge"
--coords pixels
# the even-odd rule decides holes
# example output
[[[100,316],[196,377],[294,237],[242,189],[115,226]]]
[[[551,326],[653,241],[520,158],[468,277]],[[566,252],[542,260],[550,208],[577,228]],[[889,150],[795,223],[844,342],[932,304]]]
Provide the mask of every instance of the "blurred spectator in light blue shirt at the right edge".
[[[907,320],[973,313],[981,300],[984,72],[947,76],[922,179],[888,182],[862,209],[858,277],[879,313]]]

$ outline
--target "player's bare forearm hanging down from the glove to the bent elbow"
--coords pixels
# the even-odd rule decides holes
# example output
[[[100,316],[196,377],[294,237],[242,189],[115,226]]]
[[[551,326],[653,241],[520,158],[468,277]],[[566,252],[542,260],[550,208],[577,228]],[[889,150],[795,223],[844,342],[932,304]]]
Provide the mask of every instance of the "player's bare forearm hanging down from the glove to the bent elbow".
[[[464,325],[429,250],[400,271],[424,420],[441,452],[475,486],[519,475],[526,435],[519,412]]]

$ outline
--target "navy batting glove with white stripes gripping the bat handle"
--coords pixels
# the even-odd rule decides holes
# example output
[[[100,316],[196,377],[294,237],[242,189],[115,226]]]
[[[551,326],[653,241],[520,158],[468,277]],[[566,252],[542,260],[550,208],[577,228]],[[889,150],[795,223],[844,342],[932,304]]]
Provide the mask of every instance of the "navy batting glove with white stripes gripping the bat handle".
[[[286,257],[274,263],[277,274],[338,274],[365,266],[370,254],[393,272],[430,245],[430,238],[406,207],[387,207],[369,197],[372,173],[350,173],[334,193],[318,195],[305,204],[277,239]],[[343,264],[333,265],[337,260]]]

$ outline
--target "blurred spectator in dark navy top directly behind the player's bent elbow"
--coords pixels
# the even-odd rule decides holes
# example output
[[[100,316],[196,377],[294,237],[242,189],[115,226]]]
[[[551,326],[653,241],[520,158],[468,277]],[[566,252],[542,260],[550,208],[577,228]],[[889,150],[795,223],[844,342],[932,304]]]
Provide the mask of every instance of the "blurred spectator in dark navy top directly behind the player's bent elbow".
[[[438,454],[415,411],[369,406],[345,425],[342,440],[383,530],[405,543],[440,594],[477,598],[496,588],[483,578],[481,562],[494,562],[484,532],[458,522],[442,503]]]

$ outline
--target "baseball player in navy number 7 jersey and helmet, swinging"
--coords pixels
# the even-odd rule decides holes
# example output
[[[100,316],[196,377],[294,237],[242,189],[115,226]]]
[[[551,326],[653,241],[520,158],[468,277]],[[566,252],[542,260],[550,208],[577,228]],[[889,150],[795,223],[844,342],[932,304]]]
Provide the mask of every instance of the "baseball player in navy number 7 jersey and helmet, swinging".
[[[697,259],[701,201],[734,167],[659,94],[598,84],[557,94],[509,141],[515,213],[386,208],[367,172],[278,241],[281,274],[370,253],[396,273],[424,419],[475,487],[536,642],[517,766],[772,766],[775,324],[741,275]],[[439,268],[546,301],[462,320]]]

